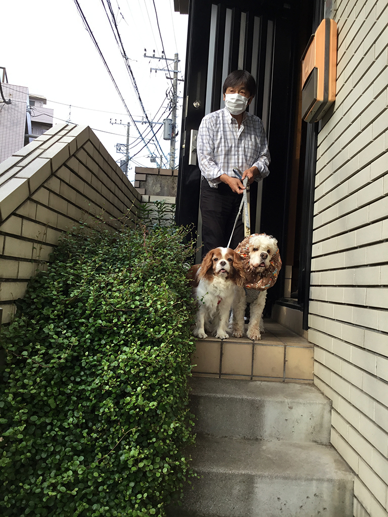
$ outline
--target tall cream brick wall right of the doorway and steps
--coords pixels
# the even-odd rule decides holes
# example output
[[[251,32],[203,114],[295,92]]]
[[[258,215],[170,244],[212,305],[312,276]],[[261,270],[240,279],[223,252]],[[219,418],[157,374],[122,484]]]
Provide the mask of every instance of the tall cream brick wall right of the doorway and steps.
[[[337,0],[337,98],[321,129],[309,340],[353,468],[355,517],[388,515],[388,3]]]

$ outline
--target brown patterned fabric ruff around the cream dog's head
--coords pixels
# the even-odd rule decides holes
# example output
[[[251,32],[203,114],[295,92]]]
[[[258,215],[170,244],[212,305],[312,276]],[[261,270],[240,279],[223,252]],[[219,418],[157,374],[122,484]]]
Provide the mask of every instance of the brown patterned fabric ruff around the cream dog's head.
[[[265,235],[264,233],[254,233],[245,237],[245,239],[240,242],[237,248],[234,250],[238,253],[242,261],[244,263],[244,269],[249,272],[249,239],[253,236],[257,235]],[[253,271],[249,272],[248,282],[245,284],[244,289],[247,294],[247,290],[255,289],[257,291],[266,291],[268,288],[272,287],[279,275],[279,271],[281,269],[281,258],[279,253],[279,248],[277,248],[276,253],[271,258],[270,267],[267,270],[264,270],[260,275],[255,275]]]

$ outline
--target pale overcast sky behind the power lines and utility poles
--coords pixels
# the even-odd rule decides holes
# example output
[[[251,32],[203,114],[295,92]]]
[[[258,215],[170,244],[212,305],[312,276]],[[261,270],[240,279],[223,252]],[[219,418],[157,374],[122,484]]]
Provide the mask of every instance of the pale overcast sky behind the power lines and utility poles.
[[[102,0],[78,2],[130,113],[135,120],[140,120],[142,110]],[[184,72],[187,15],[174,12],[173,0],[155,0],[160,38],[153,0],[111,0],[111,5],[147,115],[150,119],[162,120],[167,116],[167,113],[163,115],[163,111],[168,106],[166,92],[171,87],[171,81],[166,79],[163,71],[150,72],[151,67],[166,67],[166,62],[143,57],[144,49],[147,49],[147,55],[152,55],[155,49],[156,56],[161,56],[162,39],[166,57],[174,58],[174,53],[178,52],[181,60],[179,69]],[[95,129],[96,135],[115,160],[123,156],[116,153],[116,143],[125,144],[129,117],[84,27],[74,0],[2,2],[0,49],[0,66],[6,68],[8,82],[27,86],[30,94],[46,97],[47,107],[54,109],[54,123],[70,118],[74,124],[88,125]],[[179,74],[178,78],[184,78],[184,73]],[[178,92],[182,97],[182,82],[178,82]],[[158,112],[160,107],[162,109]],[[178,116],[181,112],[182,98],[178,99]],[[121,119],[125,126],[111,125],[111,118],[117,122]],[[142,132],[148,132],[145,125],[138,126]],[[159,127],[156,125],[154,130]],[[177,129],[180,130],[180,118]],[[130,150],[130,156],[144,145],[136,141],[138,136],[136,129],[131,127],[130,145],[138,145]],[[162,129],[159,129],[157,136],[168,158],[170,142],[162,139]],[[149,139],[150,135],[146,140]],[[156,146],[150,144],[149,147],[154,153]],[[133,159],[130,179],[135,174],[135,165],[155,166],[149,156],[150,151],[144,148]],[[177,156],[178,145],[176,165]]]

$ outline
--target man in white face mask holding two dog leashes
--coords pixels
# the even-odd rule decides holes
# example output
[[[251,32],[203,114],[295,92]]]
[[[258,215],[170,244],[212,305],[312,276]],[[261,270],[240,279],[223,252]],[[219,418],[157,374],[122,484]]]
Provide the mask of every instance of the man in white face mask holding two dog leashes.
[[[235,70],[223,83],[225,108],[206,115],[197,139],[198,163],[202,173],[201,214],[203,255],[212,248],[226,247],[230,239],[244,180],[260,181],[268,176],[271,158],[263,123],[246,107],[256,93],[256,81],[245,70]],[[237,221],[231,248],[244,239],[242,216]]]

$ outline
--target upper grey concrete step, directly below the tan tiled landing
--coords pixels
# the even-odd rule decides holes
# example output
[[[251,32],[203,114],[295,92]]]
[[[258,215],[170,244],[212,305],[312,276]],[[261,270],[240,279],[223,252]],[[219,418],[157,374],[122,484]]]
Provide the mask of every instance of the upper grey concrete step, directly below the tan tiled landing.
[[[193,377],[200,434],[330,443],[331,401],[314,385]]]

